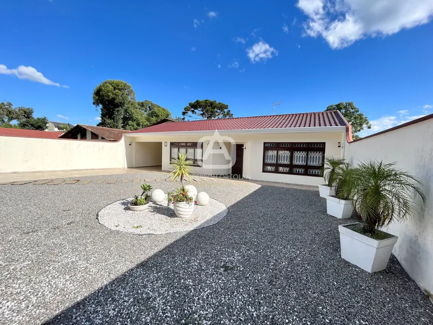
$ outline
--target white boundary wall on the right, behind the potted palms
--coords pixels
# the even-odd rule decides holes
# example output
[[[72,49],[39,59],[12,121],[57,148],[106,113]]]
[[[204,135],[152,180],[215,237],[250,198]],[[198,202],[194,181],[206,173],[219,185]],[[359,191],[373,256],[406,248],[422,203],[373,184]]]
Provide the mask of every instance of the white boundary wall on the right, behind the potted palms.
[[[365,159],[397,162],[424,182],[427,204],[418,204],[411,219],[384,230],[399,237],[393,253],[406,272],[433,292],[433,119],[353,142],[346,158],[352,165]]]

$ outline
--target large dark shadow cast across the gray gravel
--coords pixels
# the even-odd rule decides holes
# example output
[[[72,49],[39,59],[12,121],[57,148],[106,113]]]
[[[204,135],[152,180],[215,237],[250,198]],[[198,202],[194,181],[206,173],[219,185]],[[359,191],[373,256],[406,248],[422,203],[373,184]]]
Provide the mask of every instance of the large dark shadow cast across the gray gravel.
[[[339,256],[319,193],[262,186],[45,324],[432,324],[394,256],[368,274]]]

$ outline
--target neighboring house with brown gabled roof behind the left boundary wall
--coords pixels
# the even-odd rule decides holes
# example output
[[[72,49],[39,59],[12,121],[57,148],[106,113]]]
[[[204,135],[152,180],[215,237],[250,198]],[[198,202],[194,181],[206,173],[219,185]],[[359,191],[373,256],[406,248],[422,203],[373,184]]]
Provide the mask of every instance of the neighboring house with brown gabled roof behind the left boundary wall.
[[[132,131],[77,124],[71,130],[65,132],[60,138],[77,140],[119,141],[120,139],[122,139],[123,134],[130,132]]]

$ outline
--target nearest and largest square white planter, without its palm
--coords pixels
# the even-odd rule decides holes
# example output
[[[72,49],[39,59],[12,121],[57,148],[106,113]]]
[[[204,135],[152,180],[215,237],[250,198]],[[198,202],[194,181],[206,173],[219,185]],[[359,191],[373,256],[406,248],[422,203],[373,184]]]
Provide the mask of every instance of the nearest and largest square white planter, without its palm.
[[[358,223],[338,226],[341,258],[370,273],[384,270],[398,237],[376,240],[345,227]]]

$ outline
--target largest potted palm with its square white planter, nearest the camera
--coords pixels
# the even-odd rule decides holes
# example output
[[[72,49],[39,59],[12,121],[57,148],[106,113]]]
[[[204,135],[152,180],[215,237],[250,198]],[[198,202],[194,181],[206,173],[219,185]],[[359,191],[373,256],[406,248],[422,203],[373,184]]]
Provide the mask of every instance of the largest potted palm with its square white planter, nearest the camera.
[[[386,268],[398,237],[379,230],[403,221],[415,211],[415,197],[423,202],[422,182],[395,163],[359,163],[342,185],[350,193],[363,223],[339,225],[341,257],[368,272]]]

